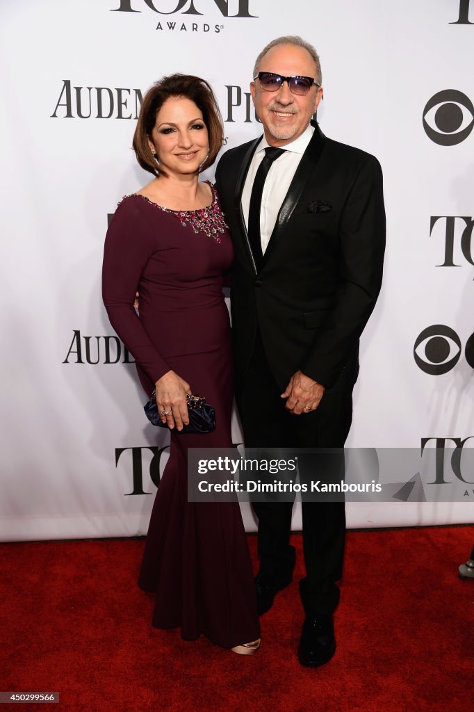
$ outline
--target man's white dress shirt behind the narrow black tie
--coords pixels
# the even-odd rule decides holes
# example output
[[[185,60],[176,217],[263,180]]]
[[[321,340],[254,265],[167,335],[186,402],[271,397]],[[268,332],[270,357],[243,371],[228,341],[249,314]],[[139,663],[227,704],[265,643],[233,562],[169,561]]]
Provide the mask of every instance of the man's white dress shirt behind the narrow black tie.
[[[263,186],[262,208],[260,210],[260,239],[263,253],[265,253],[268,242],[270,241],[280,207],[283,204],[285,195],[288,193],[290,183],[293,180],[301,157],[312,139],[314,131],[315,128],[309,124],[297,139],[282,146],[282,148],[285,149],[285,153],[273,161],[268,171],[265,185]],[[265,156],[265,148],[268,147],[268,145],[265,135],[263,135],[256,152],[253,154],[250,167],[248,168],[246,183],[243,187],[242,210],[247,229],[253,181],[256,177],[258,166]]]

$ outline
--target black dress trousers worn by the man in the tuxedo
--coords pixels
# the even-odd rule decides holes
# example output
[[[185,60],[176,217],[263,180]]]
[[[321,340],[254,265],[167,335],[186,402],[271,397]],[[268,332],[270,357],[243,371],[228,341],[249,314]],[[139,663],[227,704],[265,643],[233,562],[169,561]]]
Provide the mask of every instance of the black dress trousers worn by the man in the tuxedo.
[[[237,393],[247,447],[344,446],[352,422],[352,388],[325,392],[315,411],[301,415],[285,409],[281,392],[258,335],[245,386]],[[293,502],[260,502],[253,508],[258,517],[260,573],[278,587],[293,563],[289,544]],[[344,502],[302,502],[306,577],[300,581],[300,596],[307,616],[331,613],[337,607],[345,524]]]

